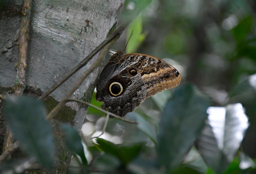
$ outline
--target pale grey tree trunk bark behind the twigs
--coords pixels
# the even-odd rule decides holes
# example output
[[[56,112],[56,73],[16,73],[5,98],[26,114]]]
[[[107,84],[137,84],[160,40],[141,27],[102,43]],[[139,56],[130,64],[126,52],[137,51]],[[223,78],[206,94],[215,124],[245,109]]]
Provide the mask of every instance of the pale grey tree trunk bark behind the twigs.
[[[124,0],[34,0],[32,2],[26,68],[26,92],[40,96],[98,46],[118,22]],[[0,2],[0,94],[13,87],[18,59],[17,43],[22,0]],[[95,57],[97,57],[95,55]],[[77,79],[94,63],[88,64],[56,89],[44,101],[48,111],[63,99]],[[72,97],[91,100],[100,67],[94,70]],[[1,100],[0,100],[1,101]],[[1,103],[0,103],[1,104]],[[56,166],[68,166],[71,154],[64,149],[57,124],[69,122],[81,129],[87,109],[77,103],[66,106],[51,121],[57,144]],[[0,112],[0,128],[5,127]],[[3,144],[1,135],[1,144]],[[17,155],[19,156],[19,155]],[[56,169],[55,173],[67,172]]]

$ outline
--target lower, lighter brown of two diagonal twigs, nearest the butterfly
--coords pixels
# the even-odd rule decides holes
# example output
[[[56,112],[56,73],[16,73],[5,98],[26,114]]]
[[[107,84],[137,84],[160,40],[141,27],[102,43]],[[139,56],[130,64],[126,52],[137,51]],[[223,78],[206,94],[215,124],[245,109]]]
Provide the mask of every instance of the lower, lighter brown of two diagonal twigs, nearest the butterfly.
[[[96,61],[94,64],[83,74],[83,76],[77,81],[77,83],[72,87],[72,89],[69,91],[69,93],[66,95],[64,100],[59,102],[57,106],[55,106],[51,112],[47,115],[46,119],[51,119],[53,118],[66,104],[67,99],[71,97],[71,95],[76,91],[76,89],[83,83],[85,78],[94,71],[95,68],[98,67],[98,65],[102,62],[104,59],[107,51],[109,50],[110,46],[117,40],[118,38],[115,37],[113,38],[100,52],[100,55],[97,57]]]

